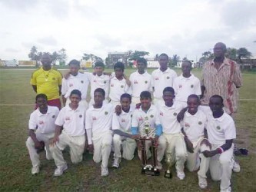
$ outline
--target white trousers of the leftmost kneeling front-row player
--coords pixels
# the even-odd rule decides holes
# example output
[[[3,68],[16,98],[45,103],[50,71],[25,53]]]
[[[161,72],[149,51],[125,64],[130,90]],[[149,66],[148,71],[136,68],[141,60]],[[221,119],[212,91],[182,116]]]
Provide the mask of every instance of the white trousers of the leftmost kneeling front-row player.
[[[49,149],[50,139],[52,139],[55,136],[55,133],[48,133],[48,134],[42,134],[39,131],[35,131],[35,136],[38,139],[38,141],[44,141],[45,143],[45,151],[46,151],[46,158],[48,160],[52,159],[52,154]],[[39,155],[37,153],[37,150],[35,149],[35,143],[32,140],[31,137],[28,137],[26,141],[26,146],[28,147],[28,153],[30,160],[32,162],[33,167],[37,167],[40,165]]]

